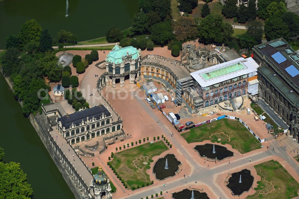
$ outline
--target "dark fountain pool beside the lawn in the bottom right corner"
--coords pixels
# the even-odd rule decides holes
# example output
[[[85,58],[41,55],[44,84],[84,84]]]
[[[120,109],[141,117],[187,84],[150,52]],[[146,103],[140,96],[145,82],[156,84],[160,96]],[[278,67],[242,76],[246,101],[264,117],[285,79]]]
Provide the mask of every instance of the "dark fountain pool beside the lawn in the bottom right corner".
[[[234,195],[241,195],[243,192],[247,192],[250,189],[253,180],[254,177],[251,175],[250,171],[243,169],[242,171],[232,173],[226,186],[231,189]]]

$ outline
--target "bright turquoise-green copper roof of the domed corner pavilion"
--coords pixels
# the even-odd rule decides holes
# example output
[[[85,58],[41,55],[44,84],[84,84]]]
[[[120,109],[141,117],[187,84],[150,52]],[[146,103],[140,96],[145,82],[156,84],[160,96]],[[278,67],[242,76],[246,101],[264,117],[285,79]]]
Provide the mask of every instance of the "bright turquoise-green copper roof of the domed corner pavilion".
[[[123,62],[123,56],[127,56],[127,52],[129,55],[132,55],[132,59],[138,59],[140,55],[140,50],[137,50],[137,48],[134,48],[132,46],[128,46],[125,48],[121,48],[118,45],[115,45],[112,48],[112,51],[108,54],[107,61],[110,63],[121,63]]]

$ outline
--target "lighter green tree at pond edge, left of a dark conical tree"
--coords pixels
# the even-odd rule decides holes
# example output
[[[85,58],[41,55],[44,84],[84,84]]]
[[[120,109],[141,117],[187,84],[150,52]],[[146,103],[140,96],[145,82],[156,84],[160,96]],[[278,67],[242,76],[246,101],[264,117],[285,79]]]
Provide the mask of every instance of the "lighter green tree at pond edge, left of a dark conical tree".
[[[42,27],[35,19],[26,21],[25,24],[21,26],[21,30],[18,34],[21,47],[24,47],[28,42],[35,42],[39,45],[41,34]]]

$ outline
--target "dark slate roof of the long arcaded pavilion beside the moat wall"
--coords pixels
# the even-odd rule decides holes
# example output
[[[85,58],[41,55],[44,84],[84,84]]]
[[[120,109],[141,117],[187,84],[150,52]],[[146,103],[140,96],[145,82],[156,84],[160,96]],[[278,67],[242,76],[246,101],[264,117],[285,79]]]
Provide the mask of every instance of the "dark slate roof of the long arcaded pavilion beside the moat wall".
[[[61,122],[62,127],[69,128],[72,123],[78,126],[80,125],[82,120],[86,122],[87,117],[89,120],[91,120],[92,117],[98,120],[103,114],[106,115],[106,117],[109,117],[111,115],[105,106],[94,106],[83,111],[69,114],[68,117],[64,115],[63,117],[59,118],[57,122]]]

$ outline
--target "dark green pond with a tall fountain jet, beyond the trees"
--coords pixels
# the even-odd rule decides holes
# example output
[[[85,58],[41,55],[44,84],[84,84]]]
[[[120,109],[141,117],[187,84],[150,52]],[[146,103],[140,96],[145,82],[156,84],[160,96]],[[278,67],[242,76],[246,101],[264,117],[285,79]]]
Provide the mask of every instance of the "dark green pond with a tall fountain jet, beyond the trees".
[[[62,29],[85,41],[105,36],[111,27],[127,29],[139,7],[138,0],[68,0],[68,4],[66,17],[66,0],[0,1],[0,49],[5,48],[5,38],[17,34],[29,19],[36,19],[56,41]]]

